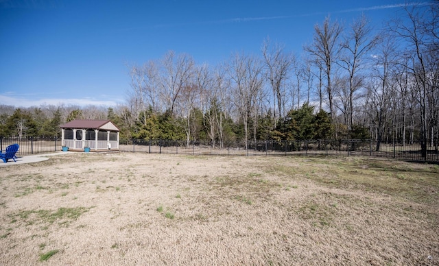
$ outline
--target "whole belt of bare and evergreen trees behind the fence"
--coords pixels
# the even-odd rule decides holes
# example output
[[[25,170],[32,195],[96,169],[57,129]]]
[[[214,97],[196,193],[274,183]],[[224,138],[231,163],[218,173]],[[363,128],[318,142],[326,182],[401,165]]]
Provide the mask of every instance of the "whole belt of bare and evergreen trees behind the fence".
[[[405,145],[420,138],[426,147],[439,138],[438,19],[437,2],[407,5],[380,31],[366,16],[327,18],[303,51],[267,38],[259,54],[234,53],[215,66],[169,51],[128,67],[125,105],[0,106],[0,135],[59,134],[56,125],[82,118],[111,119],[122,138],[214,146],[299,138]]]

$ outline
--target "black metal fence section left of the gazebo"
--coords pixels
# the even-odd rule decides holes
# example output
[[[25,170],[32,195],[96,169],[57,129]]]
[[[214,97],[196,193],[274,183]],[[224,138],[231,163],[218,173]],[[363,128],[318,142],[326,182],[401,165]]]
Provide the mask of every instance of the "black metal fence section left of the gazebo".
[[[3,138],[0,136],[0,149],[5,152],[6,147],[17,143],[20,145],[16,156],[30,154],[44,154],[48,152],[58,152],[62,150],[59,138]]]

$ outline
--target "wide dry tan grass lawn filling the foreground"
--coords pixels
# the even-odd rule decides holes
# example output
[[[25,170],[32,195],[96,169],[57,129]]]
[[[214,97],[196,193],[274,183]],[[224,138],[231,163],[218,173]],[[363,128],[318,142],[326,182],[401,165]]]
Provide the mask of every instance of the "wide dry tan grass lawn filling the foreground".
[[[67,154],[0,169],[0,265],[439,265],[439,167]]]

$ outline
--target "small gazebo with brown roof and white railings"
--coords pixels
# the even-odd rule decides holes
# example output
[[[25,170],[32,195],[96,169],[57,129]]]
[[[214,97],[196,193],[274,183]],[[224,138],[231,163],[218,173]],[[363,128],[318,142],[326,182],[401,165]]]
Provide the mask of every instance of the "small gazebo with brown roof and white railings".
[[[73,120],[60,126],[62,146],[70,150],[119,149],[119,128],[110,120]]]

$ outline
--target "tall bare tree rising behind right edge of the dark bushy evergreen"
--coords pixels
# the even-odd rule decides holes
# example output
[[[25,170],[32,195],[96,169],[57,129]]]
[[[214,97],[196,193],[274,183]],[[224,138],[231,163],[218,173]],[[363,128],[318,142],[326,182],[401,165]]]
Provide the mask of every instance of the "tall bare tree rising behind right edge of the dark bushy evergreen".
[[[314,58],[313,61],[324,72],[329,112],[331,112],[331,118],[334,119],[332,75],[335,60],[337,60],[340,51],[340,35],[342,34],[343,27],[336,22],[331,23],[331,20],[327,17],[321,27],[316,25],[314,29],[313,43],[306,45],[305,51],[310,53]]]

